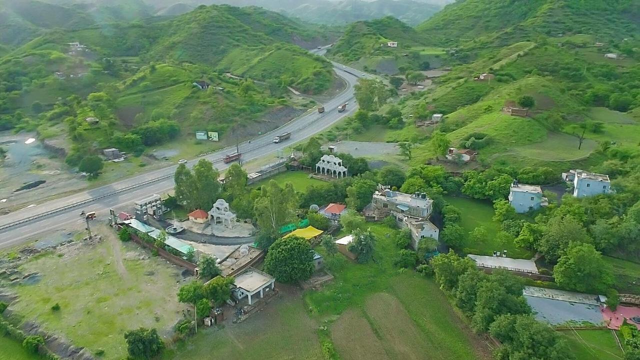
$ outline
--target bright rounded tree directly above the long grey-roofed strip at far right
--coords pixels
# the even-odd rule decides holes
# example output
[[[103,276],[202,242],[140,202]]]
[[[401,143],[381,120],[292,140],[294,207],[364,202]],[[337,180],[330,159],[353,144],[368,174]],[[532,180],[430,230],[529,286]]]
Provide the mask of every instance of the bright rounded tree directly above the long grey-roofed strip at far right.
[[[574,243],[554,266],[556,284],[567,290],[602,293],[613,284],[613,270],[587,243]]]

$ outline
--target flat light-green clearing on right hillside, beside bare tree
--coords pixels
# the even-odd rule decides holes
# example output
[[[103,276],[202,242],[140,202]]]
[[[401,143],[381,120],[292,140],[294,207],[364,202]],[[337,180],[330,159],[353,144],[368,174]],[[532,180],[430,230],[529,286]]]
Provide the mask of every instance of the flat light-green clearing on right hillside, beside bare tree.
[[[598,143],[585,139],[578,150],[578,138],[564,133],[548,133],[543,142],[522,145],[513,149],[516,153],[538,160],[568,161],[589,156]]]

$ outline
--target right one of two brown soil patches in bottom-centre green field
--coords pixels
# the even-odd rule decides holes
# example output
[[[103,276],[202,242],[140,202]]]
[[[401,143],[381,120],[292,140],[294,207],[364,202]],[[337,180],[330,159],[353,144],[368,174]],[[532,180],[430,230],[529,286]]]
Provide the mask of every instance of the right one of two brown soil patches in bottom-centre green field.
[[[366,308],[392,358],[419,360],[429,353],[424,335],[398,299],[385,293],[374,294],[367,300]]]

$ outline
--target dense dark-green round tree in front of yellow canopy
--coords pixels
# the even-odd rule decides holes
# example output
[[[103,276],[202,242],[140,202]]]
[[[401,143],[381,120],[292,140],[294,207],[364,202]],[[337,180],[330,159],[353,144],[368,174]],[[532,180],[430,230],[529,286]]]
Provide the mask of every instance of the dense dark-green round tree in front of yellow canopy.
[[[264,259],[264,270],[278,282],[295,283],[309,279],[314,272],[309,241],[299,236],[276,240]]]

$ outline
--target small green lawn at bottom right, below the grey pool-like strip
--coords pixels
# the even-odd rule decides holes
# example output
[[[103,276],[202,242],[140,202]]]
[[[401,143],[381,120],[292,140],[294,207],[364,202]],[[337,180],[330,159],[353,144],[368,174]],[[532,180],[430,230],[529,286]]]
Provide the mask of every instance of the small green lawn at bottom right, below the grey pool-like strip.
[[[567,340],[576,359],[580,360],[620,360],[622,350],[608,329],[560,331]]]

